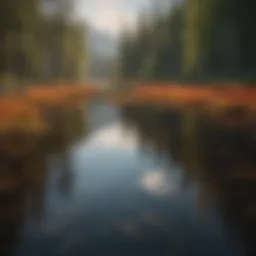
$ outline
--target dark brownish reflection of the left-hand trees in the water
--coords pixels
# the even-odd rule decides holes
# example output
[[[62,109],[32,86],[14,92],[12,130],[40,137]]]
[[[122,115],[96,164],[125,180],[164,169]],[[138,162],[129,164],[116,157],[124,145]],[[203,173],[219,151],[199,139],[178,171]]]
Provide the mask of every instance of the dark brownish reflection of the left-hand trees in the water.
[[[0,164],[0,255],[13,255],[25,219],[39,221],[44,214],[49,159],[57,160],[59,187],[69,193],[72,170],[68,149],[86,133],[81,109],[54,113],[53,130],[44,138],[28,137],[36,145],[26,154],[1,155]],[[20,151],[20,150],[19,150]]]

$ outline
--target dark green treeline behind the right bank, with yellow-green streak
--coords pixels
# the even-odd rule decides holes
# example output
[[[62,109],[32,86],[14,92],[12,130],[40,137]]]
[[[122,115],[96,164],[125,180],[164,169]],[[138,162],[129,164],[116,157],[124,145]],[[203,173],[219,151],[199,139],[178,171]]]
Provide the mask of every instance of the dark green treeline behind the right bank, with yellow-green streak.
[[[124,80],[256,82],[256,2],[173,1],[167,14],[123,34]]]

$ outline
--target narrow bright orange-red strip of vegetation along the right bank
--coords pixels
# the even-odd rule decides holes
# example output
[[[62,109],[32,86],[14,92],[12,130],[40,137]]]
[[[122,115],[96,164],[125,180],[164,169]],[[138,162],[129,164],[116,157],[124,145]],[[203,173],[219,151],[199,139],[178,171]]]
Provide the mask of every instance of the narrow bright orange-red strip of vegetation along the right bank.
[[[225,88],[225,87],[224,87]],[[226,88],[215,87],[181,87],[181,86],[143,86],[134,90],[132,100],[165,102],[174,105],[233,105],[245,106],[250,109],[256,107],[256,89],[254,88]]]

